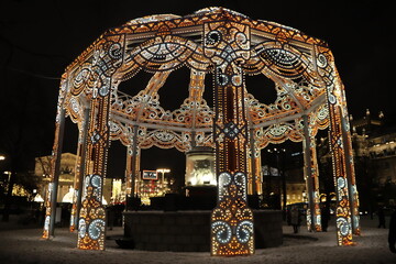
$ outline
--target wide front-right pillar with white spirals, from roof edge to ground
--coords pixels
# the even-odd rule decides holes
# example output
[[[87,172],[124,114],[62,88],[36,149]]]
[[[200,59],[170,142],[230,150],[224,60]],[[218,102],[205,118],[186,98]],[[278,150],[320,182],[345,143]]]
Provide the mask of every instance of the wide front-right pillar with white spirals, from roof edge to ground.
[[[334,58],[331,52],[327,47],[316,47],[316,64],[322,81],[326,85],[329,107],[329,144],[332,154],[337,194],[337,239],[339,245],[350,245],[353,244],[350,182],[352,178],[354,182],[354,176],[348,176],[353,173],[353,169],[351,168],[353,162],[351,162],[352,158],[348,154],[351,152],[351,148],[345,145],[348,142],[346,133],[349,133],[349,129],[343,128],[346,123],[342,121],[343,117],[348,117],[346,103],[342,82],[337,73]]]

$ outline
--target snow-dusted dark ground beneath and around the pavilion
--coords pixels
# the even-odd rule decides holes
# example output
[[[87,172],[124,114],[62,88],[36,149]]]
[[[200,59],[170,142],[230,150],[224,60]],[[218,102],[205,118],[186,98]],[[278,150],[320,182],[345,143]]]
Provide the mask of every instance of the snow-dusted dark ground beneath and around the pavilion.
[[[388,221],[387,221],[388,222]],[[333,223],[329,232],[309,233],[301,228],[294,235],[284,227],[284,244],[279,248],[257,250],[254,255],[240,257],[211,257],[208,253],[144,252],[122,250],[114,240],[107,240],[107,250],[81,251],[76,249],[77,234],[57,229],[52,241],[41,240],[41,228],[18,223],[0,223],[0,263],[345,263],[396,264],[396,254],[387,246],[388,229],[377,229],[377,220],[362,219],[362,235],[354,237],[356,245],[337,246]],[[107,235],[122,234],[121,228]]]

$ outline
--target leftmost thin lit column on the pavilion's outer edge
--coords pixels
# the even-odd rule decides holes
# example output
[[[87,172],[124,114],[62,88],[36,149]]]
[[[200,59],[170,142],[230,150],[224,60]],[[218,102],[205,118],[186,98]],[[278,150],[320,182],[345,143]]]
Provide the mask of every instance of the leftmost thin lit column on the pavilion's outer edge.
[[[47,197],[45,199],[45,220],[44,220],[44,231],[43,239],[50,239],[54,235],[55,229],[55,215],[56,215],[56,198],[57,189],[59,183],[59,168],[61,168],[61,156],[62,156],[62,146],[63,138],[65,131],[65,94],[67,90],[67,80],[66,74],[62,76],[61,89],[56,109],[55,118],[55,139],[52,151],[51,160],[51,182],[48,185]]]

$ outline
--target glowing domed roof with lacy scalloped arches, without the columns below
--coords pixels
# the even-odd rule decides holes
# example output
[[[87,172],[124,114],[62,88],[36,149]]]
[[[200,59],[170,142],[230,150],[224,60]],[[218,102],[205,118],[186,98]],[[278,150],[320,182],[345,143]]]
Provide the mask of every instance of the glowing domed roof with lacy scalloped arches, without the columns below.
[[[229,23],[228,33],[234,34],[231,46],[221,42],[226,32],[215,29],[221,23]],[[233,33],[237,28],[243,32]],[[110,92],[113,140],[130,144],[132,128],[138,125],[143,148],[156,145],[185,152],[191,141],[212,146],[213,109],[202,98],[205,78],[216,65],[232,63],[245,75],[264,75],[275,85],[277,98],[272,103],[258,101],[245,87],[249,127],[262,148],[285,140],[301,141],[302,116],[310,117],[314,134],[328,127],[326,84],[332,81],[332,61],[321,40],[224,8],[185,16],[148,15],[107,31],[67,68],[73,85],[66,108],[80,122],[90,98]],[[173,70],[184,66],[190,69],[190,84],[185,87],[189,96],[178,109],[164,109],[158,90]],[[135,95],[118,91],[121,81],[142,69],[153,74],[145,88]],[[92,81],[98,75],[99,81]]]

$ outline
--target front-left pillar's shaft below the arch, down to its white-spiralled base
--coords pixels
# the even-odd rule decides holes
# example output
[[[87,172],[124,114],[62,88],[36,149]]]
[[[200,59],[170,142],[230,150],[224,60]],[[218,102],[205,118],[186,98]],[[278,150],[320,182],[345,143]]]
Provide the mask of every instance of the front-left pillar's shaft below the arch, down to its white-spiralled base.
[[[78,220],[78,249],[105,250],[106,211],[102,187],[109,145],[109,95],[91,99],[82,201]]]

